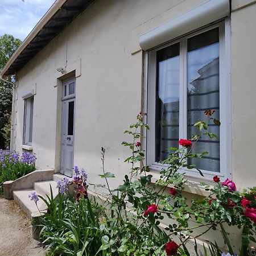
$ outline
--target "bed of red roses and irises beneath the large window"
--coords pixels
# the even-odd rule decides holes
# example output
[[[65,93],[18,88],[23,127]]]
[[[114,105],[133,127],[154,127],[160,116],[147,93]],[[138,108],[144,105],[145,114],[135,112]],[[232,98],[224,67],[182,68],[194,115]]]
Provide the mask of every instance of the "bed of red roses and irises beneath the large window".
[[[105,149],[102,148],[103,174],[100,176],[105,182],[89,185],[106,189],[105,199],[88,197],[88,177],[78,167],[74,168],[72,181],[58,181],[59,200],[54,201],[52,195],[47,200],[40,197],[47,203],[48,212],[35,221],[49,255],[199,255],[196,238],[210,230],[222,234],[226,251],[219,249],[216,242],[208,241],[203,255],[249,255],[249,242],[255,242],[256,234],[256,187],[238,192],[232,180],[221,182],[220,177],[213,176],[214,186],[201,183],[209,196],[192,201],[184,197],[187,180],[183,170],[196,170],[188,164],[188,159],[207,154],[194,152],[195,144],[202,137],[216,137],[208,132],[209,122],[220,126],[213,114],[214,110],[205,111],[205,121],[195,123],[199,133],[190,139],[180,139],[179,148],[168,149],[168,158],[162,162],[166,167],[154,183],[150,168],[144,166],[141,131],[149,127],[143,122],[146,115],[143,113],[137,116],[137,123],[125,131],[132,137],[131,142],[122,143],[131,150],[125,159],[131,171],[117,188],[110,188],[109,179],[115,176],[105,171]],[[75,187],[75,195],[68,191],[71,185]],[[31,200],[34,199],[31,197]],[[242,230],[239,251],[233,251],[226,226]],[[191,240],[192,250],[188,249]]]

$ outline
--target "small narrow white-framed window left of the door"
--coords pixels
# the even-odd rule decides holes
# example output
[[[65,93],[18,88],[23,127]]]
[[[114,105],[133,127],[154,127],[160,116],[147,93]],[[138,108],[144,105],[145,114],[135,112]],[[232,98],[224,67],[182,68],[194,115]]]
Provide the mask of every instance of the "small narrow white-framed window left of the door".
[[[32,145],[32,130],[33,130],[33,110],[34,97],[24,100],[24,129],[23,129],[23,144]]]

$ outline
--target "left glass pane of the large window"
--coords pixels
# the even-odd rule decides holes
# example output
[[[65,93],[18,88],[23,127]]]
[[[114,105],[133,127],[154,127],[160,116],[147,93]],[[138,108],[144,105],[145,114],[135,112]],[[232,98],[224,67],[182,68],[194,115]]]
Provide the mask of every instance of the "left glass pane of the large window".
[[[167,158],[179,141],[179,43],[156,53],[155,160]]]

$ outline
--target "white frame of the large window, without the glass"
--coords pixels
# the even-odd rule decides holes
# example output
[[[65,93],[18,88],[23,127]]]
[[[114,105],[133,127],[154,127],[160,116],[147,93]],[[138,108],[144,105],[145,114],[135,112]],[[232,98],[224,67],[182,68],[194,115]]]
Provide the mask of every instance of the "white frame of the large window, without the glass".
[[[144,72],[144,112],[147,112],[147,123],[150,130],[144,131],[144,149],[146,149],[146,164],[152,170],[161,170],[164,165],[155,162],[155,94],[156,94],[156,51],[180,43],[180,104],[179,104],[179,138],[187,138],[187,40],[205,31],[219,28],[220,52],[220,172],[202,170],[206,179],[212,176],[232,177],[232,134],[231,134],[231,89],[230,89],[230,19],[226,18],[211,26],[205,26],[191,34],[155,47],[145,52]],[[180,170],[187,176],[201,177],[197,170]]]

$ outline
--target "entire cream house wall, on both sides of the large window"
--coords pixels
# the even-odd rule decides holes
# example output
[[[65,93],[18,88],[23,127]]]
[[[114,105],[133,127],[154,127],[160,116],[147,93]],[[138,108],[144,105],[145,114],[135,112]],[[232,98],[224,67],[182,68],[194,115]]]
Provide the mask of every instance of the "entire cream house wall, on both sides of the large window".
[[[143,53],[138,38],[203,2],[93,3],[19,71],[15,150],[22,151],[22,94],[36,88],[32,138],[36,164],[59,171],[61,82],[56,68],[65,67],[67,61],[67,72],[75,69],[77,76],[74,163],[85,168],[90,182],[100,183],[101,147],[105,147],[106,171],[117,176],[110,185],[120,183],[130,171],[123,163],[130,153],[121,145],[129,139],[123,131],[135,122],[143,97]],[[247,5],[249,2],[251,5]],[[232,175],[240,189],[255,185],[256,4],[252,2],[233,0],[231,13]],[[187,188],[191,191],[201,193],[197,188]],[[193,193],[187,193],[187,197],[194,198]],[[219,238],[214,235],[214,240]],[[238,244],[239,236],[233,238]]]

